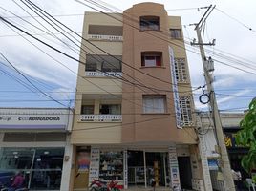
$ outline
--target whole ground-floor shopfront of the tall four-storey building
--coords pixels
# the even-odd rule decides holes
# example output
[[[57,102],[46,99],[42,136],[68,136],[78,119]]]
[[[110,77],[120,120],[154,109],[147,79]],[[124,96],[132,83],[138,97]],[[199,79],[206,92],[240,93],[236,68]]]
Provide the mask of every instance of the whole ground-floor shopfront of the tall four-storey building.
[[[188,146],[77,146],[74,190],[93,180],[115,180],[119,189],[151,187],[153,180],[157,187],[192,189],[193,162]]]

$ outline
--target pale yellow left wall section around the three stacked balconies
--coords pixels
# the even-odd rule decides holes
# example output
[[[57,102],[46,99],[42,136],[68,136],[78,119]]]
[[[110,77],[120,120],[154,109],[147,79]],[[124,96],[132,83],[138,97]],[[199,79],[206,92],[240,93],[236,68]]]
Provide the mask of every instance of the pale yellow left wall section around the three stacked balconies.
[[[117,14],[112,14],[119,18]],[[121,17],[120,17],[121,19]],[[97,13],[97,12],[85,12],[84,16],[84,25],[83,25],[83,37],[88,39],[88,26],[90,24],[94,25],[113,25],[113,26],[122,26],[122,23],[106,16],[105,14]],[[112,55],[122,55],[122,42],[113,42],[113,41],[96,41],[90,40],[96,46],[100,47],[102,50],[110,53]],[[86,47],[85,47],[86,46]],[[99,51],[93,45],[90,45],[85,40],[82,40],[81,47],[92,53],[92,50],[95,53],[92,54],[101,54],[105,55]],[[89,50],[89,49],[90,50]],[[86,62],[86,53],[83,53],[81,50],[80,53],[80,61]],[[81,112],[82,105],[82,95],[90,94],[90,95],[109,95],[109,93],[115,95],[121,95],[122,91],[122,83],[121,81],[112,78],[112,77],[89,77],[85,76],[85,65],[79,64],[78,74],[84,77],[77,78],[76,89],[79,94],[76,94],[75,101],[75,119],[74,119],[74,127],[72,132],[72,144],[109,144],[109,143],[120,143],[121,139],[121,123],[120,122],[80,122],[79,114]],[[98,88],[98,87],[100,88]],[[103,90],[102,90],[103,89]],[[86,101],[84,101],[86,102]],[[97,104],[98,105],[98,104]],[[96,108],[95,108],[96,109]],[[96,109],[96,113],[98,113],[98,108]],[[113,125],[114,127],[102,128],[106,126]],[[100,127],[100,128],[97,128]],[[96,128],[96,129],[94,129]]]

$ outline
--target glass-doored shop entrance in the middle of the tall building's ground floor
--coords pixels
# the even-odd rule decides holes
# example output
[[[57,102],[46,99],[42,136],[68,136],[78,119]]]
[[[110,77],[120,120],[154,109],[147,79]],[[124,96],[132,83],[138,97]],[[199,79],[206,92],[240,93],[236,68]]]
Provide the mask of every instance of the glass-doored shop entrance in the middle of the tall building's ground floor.
[[[167,185],[167,153],[128,151],[128,185],[150,187]]]

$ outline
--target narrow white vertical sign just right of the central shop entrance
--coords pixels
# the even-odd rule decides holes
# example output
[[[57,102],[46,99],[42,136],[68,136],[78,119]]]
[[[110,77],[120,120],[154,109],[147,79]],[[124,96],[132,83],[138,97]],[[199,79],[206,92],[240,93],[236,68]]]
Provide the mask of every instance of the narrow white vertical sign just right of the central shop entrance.
[[[169,167],[170,167],[171,186],[173,190],[181,190],[179,164],[178,164],[176,146],[169,147]]]

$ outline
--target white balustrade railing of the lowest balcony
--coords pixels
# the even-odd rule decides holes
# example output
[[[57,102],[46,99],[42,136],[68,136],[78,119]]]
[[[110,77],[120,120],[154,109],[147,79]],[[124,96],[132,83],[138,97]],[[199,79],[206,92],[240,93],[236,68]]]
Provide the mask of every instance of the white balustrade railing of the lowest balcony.
[[[95,121],[95,122],[120,122],[121,115],[81,115],[80,121]]]

